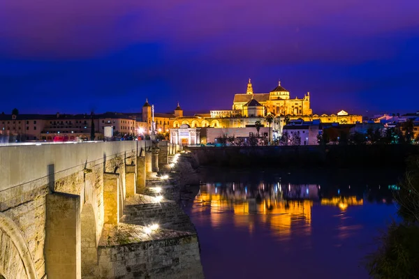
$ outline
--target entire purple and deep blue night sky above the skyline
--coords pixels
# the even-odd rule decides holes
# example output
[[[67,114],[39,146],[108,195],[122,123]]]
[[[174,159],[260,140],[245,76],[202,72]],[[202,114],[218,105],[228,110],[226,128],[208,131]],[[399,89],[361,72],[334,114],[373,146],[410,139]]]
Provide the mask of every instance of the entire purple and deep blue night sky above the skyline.
[[[314,113],[419,110],[417,0],[2,0],[0,111],[230,109],[249,77]]]

